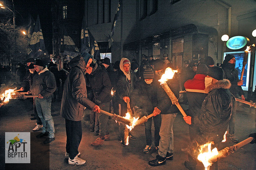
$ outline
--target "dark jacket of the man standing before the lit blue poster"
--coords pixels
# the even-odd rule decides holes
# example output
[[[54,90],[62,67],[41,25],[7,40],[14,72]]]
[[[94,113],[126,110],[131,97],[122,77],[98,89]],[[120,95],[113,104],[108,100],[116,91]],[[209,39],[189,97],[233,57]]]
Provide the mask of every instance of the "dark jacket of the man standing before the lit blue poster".
[[[234,95],[239,96],[244,95],[242,87],[237,85],[238,82],[238,71],[234,68],[229,68],[228,63],[224,63],[221,67],[224,71],[224,79],[228,79],[231,83],[230,92]]]

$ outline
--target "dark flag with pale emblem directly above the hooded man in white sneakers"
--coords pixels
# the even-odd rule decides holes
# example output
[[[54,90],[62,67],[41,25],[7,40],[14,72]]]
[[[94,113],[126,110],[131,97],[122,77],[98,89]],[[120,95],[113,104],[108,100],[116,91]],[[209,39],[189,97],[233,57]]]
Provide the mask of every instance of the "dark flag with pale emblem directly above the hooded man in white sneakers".
[[[90,53],[94,59],[100,59],[99,46],[87,28],[84,19],[81,29],[81,53]]]

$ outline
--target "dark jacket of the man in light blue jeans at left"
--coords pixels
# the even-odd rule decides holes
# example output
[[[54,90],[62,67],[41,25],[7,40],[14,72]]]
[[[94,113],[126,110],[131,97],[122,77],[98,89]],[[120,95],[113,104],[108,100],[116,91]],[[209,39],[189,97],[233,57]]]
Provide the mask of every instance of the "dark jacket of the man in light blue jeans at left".
[[[40,74],[35,74],[31,86],[31,93],[38,96],[41,94],[44,98],[49,97],[56,90],[55,77],[48,69]]]

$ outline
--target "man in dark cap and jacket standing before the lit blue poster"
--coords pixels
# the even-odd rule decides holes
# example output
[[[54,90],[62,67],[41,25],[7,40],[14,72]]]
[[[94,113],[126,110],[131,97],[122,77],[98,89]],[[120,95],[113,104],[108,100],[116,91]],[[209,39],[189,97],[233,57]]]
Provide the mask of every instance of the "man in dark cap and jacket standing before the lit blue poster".
[[[241,85],[243,85],[243,81],[239,80],[238,78],[238,71],[235,68],[236,65],[236,58],[228,54],[222,64],[222,69],[224,71],[224,79],[228,79],[231,82],[230,92],[235,96],[241,96],[241,99],[244,100],[244,91],[241,88]],[[238,139],[236,139],[235,134],[235,121],[236,121],[236,109],[237,109],[237,103],[236,101],[233,101],[233,110],[231,119],[229,122],[229,132],[227,134],[227,137],[232,140],[233,142],[239,142]]]

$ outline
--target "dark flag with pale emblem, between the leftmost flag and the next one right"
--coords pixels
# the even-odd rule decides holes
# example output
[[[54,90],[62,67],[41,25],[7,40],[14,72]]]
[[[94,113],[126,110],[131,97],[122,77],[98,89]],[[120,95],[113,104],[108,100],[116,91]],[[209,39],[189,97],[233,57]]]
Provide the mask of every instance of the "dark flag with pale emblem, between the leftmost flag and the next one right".
[[[76,57],[79,54],[79,49],[76,47],[75,42],[67,34],[67,29],[64,27],[61,37],[61,52],[65,55]]]

